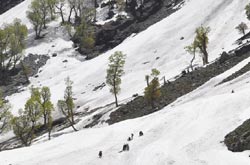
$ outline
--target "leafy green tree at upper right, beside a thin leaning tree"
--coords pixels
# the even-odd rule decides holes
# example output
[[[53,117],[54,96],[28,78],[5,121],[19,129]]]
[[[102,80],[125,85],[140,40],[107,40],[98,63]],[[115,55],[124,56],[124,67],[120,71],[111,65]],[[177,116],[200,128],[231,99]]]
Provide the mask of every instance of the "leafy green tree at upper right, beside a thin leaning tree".
[[[199,52],[202,54],[203,65],[208,64],[208,52],[207,45],[209,43],[208,33],[210,32],[210,27],[200,26],[196,29],[194,43],[197,46]]]

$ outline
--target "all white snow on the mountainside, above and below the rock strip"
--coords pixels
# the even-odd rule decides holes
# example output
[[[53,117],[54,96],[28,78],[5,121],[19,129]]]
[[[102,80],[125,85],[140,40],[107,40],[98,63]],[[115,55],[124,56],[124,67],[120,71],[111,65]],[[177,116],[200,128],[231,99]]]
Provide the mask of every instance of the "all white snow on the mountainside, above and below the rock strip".
[[[25,18],[30,2],[26,0],[0,15],[0,24],[18,17],[31,27]],[[183,48],[192,42],[196,27],[202,24],[211,27],[209,61],[223,50],[236,47],[233,43],[240,35],[235,27],[246,21],[247,3],[248,0],[187,0],[176,13],[89,61],[81,60],[72,49],[72,42],[59,22],[50,24],[42,41],[34,42],[30,30],[26,54],[58,53],[41,68],[38,78],[31,78],[31,85],[49,86],[56,104],[63,97],[64,79],[70,76],[76,104],[81,107],[78,111],[105,106],[114,100],[109,88],[93,89],[105,82],[107,59],[119,50],[127,54],[119,100],[128,101],[133,94],[143,92],[144,76],[152,68],[170,79],[189,65],[191,56]],[[156,60],[157,57],[160,58]],[[63,60],[68,62],[62,63]],[[250,117],[249,73],[215,85],[249,61],[244,60],[159,112],[76,133],[69,133],[68,128],[62,131],[67,134],[51,141],[40,140],[31,147],[0,152],[0,165],[248,165],[250,152],[232,153],[221,141]],[[13,113],[23,107],[28,97],[29,87],[7,98]],[[77,125],[80,126],[81,123]],[[141,130],[145,135],[138,137]],[[118,153],[131,133],[135,138],[129,143],[130,151]],[[103,151],[102,159],[98,158],[99,150]]]

